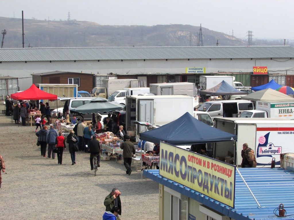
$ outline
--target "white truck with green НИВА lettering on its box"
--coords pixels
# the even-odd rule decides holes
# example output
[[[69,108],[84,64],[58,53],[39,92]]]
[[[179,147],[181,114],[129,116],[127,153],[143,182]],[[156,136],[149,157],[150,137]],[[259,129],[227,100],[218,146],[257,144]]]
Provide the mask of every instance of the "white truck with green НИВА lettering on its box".
[[[240,118],[294,119],[294,101],[256,101],[256,111],[245,111]]]

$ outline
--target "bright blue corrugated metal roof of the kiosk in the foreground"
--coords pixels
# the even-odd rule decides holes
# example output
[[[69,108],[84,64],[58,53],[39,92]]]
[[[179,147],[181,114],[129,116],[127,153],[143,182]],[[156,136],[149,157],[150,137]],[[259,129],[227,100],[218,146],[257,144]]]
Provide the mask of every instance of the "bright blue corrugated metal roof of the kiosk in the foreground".
[[[203,196],[188,187],[168,180],[159,175],[159,170],[144,170],[143,175],[184,194],[232,219],[294,219],[294,172],[283,168],[242,168],[241,175],[253,192],[261,208],[253,199],[238,172],[235,180],[235,208]],[[274,210],[284,205],[286,217],[274,215]],[[279,212],[277,212],[279,214]]]

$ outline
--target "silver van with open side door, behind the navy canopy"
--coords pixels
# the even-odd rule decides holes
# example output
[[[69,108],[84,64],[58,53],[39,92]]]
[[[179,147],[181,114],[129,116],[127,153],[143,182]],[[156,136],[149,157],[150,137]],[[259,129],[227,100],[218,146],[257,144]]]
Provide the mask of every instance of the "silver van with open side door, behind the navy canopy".
[[[198,111],[206,111],[212,119],[215,117],[238,118],[245,110],[254,110],[255,102],[247,100],[223,100],[204,102]]]

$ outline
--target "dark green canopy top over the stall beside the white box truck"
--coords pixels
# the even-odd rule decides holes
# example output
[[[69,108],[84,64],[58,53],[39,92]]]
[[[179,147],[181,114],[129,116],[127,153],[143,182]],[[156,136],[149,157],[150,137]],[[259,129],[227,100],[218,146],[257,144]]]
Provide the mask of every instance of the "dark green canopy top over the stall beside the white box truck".
[[[97,97],[89,103],[71,110],[71,113],[91,114],[91,113],[108,113],[125,110],[125,105],[111,103],[108,99]]]

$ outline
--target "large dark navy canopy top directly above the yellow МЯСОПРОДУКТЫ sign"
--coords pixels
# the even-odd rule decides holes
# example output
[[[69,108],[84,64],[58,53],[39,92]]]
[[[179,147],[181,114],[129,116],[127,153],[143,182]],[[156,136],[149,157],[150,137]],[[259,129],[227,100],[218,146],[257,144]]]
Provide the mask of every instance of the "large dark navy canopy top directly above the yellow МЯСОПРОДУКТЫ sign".
[[[219,141],[236,141],[237,136],[213,128],[186,112],[180,118],[159,128],[141,133],[141,140],[172,145],[192,145]]]

